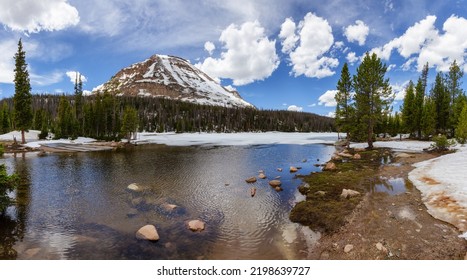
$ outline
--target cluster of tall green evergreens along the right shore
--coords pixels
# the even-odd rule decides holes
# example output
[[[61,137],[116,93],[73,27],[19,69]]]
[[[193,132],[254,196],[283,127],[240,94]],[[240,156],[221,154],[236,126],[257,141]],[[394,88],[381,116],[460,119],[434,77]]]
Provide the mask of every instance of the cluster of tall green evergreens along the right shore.
[[[424,65],[416,84],[408,83],[400,112],[392,113],[394,99],[387,67],[376,54],[366,54],[350,75],[344,64],[335,96],[336,127],[347,133],[350,141],[366,141],[371,148],[378,134],[409,134],[414,139],[431,139],[435,135],[467,139],[467,98],[461,88],[463,71],[454,61],[448,73],[438,72],[427,90],[428,64]]]

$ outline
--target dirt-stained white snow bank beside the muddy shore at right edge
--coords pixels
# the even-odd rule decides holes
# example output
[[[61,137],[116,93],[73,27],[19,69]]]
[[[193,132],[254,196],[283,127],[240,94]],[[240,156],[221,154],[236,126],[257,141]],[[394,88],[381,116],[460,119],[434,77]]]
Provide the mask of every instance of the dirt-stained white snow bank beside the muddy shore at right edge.
[[[428,212],[456,226],[467,239],[467,148],[414,166],[409,179],[422,193]]]

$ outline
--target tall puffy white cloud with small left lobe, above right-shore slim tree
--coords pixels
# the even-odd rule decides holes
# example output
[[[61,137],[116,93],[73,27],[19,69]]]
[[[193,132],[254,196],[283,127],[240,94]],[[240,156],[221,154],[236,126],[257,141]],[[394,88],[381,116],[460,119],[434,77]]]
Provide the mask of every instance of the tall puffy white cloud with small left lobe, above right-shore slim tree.
[[[334,75],[336,58],[325,56],[333,46],[334,36],[328,21],[308,13],[292,31],[291,19],[282,24],[282,49],[289,54],[292,73],[297,77],[324,78]],[[293,47],[291,42],[299,43]]]

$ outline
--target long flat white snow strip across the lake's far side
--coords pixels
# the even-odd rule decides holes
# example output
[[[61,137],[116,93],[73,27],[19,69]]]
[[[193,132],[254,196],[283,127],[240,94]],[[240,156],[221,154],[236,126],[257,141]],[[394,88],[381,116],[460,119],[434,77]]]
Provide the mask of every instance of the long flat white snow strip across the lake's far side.
[[[334,144],[337,133],[138,133],[135,143],[168,146],[240,146],[265,144]]]

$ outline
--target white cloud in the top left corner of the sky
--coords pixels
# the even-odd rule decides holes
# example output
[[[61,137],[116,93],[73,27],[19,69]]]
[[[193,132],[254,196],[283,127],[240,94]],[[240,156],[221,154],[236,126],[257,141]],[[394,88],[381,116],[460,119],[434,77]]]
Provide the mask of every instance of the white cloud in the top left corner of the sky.
[[[67,0],[2,0],[0,22],[14,31],[55,31],[79,22],[78,10]]]

